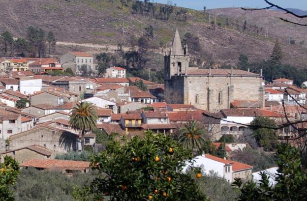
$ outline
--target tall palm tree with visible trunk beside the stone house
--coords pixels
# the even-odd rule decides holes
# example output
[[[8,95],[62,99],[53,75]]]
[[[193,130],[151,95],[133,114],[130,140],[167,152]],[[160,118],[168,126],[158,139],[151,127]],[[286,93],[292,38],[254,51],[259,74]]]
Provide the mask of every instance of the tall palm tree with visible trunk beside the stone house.
[[[92,103],[81,102],[73,107],[71,113],[69,125],[72,129],[82,132],[81,146],[83,151],[85,133],[92,132],[96,129],[98,119],[96,107]]]

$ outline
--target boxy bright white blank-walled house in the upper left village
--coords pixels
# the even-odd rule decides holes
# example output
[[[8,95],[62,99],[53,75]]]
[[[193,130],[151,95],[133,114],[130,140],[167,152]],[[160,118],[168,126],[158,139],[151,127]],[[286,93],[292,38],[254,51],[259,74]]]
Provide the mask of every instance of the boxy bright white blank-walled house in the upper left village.
[[[42,79],[22,78],[19,81],[20,92],[28,95],[41,91]]]

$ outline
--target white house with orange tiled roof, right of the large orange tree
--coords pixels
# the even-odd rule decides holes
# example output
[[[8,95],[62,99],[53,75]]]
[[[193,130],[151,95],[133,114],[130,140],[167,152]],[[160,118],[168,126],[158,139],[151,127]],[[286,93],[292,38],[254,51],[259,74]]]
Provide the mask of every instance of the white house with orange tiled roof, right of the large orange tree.
[[[186,163],[184,172],[188,170],[189,167],[193,166],[203,168],[204,172],[207,174],[211,171],[216,172],[218,176],[225,178],[229,183],[234,182],[236,177],[246,181],[251,179],[252,166],[243,163],[225,160],[210,154],[197,156],[193,160],[193,164]]]

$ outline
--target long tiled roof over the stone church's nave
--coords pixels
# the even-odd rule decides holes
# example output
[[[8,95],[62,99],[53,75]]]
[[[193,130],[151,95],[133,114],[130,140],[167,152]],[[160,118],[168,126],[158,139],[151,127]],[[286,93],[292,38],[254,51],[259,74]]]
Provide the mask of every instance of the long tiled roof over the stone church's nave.
[[[211,69],[211,75],[219,75],[219,76],[230,76],[232,74],[234,76],[260,76],[259,74],[247,72],[244,70],[238,69]],[[187,75],[208,75],[209,76],[210,69],[198,69],[198,70],[188,70]]]

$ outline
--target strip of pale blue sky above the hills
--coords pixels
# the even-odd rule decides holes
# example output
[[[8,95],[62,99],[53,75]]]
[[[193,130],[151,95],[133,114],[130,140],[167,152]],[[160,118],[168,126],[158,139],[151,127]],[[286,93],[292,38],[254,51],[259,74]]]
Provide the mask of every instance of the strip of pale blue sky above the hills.
[[[167,3],[172,1],[177,6],[202,10],[204,6],[207,9],[223,7],[266,7],[268,4],[264,0],[151,0],[151,2]],[[299,8],[307,10],[307,0],[271,0],[270,2],[278,4],[285,8]]]

